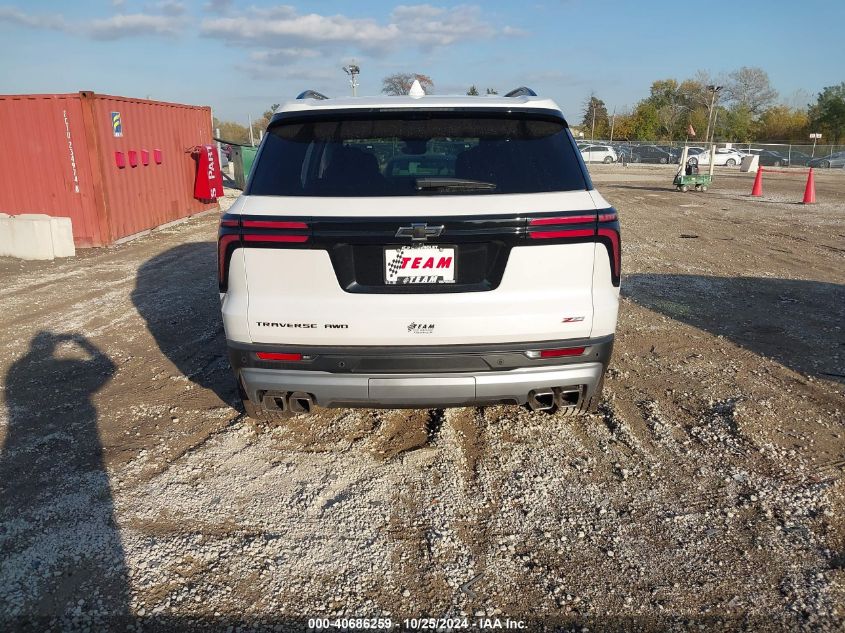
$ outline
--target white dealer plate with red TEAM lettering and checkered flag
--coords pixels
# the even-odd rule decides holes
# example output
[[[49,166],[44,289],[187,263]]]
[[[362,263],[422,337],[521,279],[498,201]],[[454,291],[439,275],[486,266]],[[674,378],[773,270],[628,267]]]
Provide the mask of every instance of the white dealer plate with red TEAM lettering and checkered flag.
[[[384,249],[384,283],[455,283],[455,247],[400,246]]]

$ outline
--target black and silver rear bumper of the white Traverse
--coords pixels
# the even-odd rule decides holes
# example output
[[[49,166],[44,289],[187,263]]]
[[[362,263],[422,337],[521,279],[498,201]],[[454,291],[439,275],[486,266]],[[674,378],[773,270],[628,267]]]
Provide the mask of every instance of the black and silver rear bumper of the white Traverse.
[[[578,357],[540,360],[524,353],[581,345],[586,350]],[[612,348],[613,337],[451,347],[448,351],[425,348],[424,352],[320,348],[318,353],[310,348],[307,362],[274,364],[256,360],[255,351],[266,351],[268,346],[233,343],[230,359],[247,396],[256,404],[268,393],[303,392],[325,407],[443,407],[525,404],[532,392],[549,389],[578,390],[581,399],[589,401],[601,383]],[[304,353],[301,350],[306,348],[285,349]],[[326,371],[329,367],[335,370]]]

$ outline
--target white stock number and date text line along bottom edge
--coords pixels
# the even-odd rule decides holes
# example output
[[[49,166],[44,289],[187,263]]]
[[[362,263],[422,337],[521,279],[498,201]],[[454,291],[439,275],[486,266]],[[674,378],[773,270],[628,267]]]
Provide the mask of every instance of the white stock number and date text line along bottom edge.
[[[524,620],[510,618],[404,618],[393,621],[392,618],[309,618],[308,630],[400,630],[400,631],[460,631],[476,629],[520,631],[527,629]]]

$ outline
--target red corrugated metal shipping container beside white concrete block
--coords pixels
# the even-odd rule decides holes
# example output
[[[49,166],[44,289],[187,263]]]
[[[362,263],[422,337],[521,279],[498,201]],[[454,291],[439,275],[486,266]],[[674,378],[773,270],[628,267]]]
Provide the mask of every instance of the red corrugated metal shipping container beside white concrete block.
[[[92,92],[0,95],[0,138],[0,213],[69,217],[80,247],[217,207],[194,199],[190,151],[212,142],[207,106]],[[127,169],[141,147],[155,148],[154,163]]]

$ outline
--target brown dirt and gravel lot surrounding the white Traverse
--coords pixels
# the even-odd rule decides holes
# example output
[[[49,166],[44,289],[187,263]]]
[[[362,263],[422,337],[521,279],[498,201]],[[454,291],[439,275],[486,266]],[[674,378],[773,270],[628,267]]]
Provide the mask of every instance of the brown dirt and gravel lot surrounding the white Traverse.
[[[753,200],[735,172],[707,194],[593,173],[625,272],[595,416],[257,428],[233,408],[214,215],[0,260],[0,629],[842,630],[845,173],[817,174],[812,207],[797,174]]]

